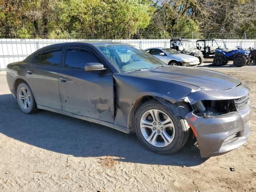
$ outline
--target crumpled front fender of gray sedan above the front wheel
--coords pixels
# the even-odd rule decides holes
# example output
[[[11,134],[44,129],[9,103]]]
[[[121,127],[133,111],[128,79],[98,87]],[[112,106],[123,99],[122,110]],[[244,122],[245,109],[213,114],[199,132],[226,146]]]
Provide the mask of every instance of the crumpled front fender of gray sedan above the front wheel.
[[[114,124],[129,127],[129,118],[134,103],[143,96],[163,98],[176,103],[198,87],[183,82],[157,78],[143,78],[126,73],[113,74],[115,99]]]

